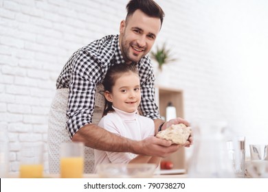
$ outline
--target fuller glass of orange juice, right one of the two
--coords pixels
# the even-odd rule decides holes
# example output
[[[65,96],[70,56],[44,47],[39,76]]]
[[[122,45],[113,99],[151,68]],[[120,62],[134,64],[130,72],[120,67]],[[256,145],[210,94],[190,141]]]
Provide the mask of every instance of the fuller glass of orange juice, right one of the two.
[[[60,145],[60,177],[82,178],[84,173],[84,143],[72,142]]]

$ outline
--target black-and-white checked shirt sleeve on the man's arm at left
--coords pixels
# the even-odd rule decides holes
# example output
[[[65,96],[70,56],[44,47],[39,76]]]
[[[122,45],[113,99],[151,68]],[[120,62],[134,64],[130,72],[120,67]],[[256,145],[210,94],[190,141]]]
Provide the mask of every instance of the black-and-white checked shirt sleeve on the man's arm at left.
[[[87,51],[80,51],[72,61],[73,67],[69,83],[67,106],[67,129],[70,136],[91,123],[95,106],[96,85],[102,79],[102,69],[98,58]]]

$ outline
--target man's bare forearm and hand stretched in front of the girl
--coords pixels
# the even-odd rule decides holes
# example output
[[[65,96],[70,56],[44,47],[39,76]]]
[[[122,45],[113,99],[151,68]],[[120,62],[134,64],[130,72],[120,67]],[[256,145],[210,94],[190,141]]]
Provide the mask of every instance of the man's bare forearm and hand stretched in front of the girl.
[[[71,140],[80,141],[87,147],[107,152],[131,152],[146,156],[166,157],[179,148],[179,145],[171,145],[171,141],[158,139],[155,136],[150,136],[142,141],[133,141],[93,124],[84,125]]]

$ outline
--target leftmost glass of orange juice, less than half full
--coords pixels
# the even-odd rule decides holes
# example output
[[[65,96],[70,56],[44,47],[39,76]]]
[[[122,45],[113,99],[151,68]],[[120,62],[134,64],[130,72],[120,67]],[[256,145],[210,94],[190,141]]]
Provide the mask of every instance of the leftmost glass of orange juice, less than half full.
[[[43,178],[43,143],[23,143],[20,178]]]

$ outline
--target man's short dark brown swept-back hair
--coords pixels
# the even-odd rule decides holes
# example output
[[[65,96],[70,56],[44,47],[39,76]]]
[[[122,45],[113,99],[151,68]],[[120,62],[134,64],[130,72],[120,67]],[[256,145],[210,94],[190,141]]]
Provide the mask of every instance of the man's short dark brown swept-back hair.
[[[141,10],[148,16],[159,18],[161,21],[161,26],[165,16],[164,11],[153,0],[131,0],[126,5],[126,10],[126,19],[131,16],[135,12],[135,10]]]

